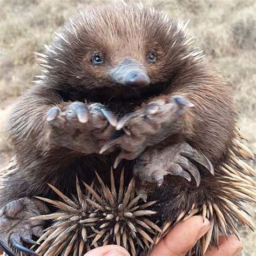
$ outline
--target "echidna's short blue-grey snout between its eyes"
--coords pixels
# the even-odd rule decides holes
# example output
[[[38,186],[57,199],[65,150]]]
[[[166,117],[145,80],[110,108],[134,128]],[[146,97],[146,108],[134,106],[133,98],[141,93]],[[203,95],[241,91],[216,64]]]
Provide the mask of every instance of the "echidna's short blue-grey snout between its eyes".
[[[145,67],[134,59],[124,59],[112,72],[112,80],[130,87],[144,87],[150,84]]]

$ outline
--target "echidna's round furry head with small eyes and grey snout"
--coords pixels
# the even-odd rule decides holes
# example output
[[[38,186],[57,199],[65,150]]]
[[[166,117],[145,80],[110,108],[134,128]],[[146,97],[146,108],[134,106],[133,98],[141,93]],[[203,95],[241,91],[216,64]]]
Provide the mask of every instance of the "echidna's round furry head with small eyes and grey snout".
[[[113,88],[132,96],[163,85],[179,68],[183,32],[162,12],[138,4],[78,13],[53,41],[50,65],[64,86]]]

